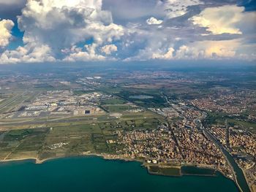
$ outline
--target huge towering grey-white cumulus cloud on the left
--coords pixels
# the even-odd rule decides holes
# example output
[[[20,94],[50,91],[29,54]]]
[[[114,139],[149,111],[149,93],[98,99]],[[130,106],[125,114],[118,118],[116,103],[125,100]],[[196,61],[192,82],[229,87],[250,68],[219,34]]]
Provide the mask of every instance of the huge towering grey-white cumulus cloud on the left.
[[[22,15],[18,16],[18,26],[24,31],[23,42],[26,46],[23,48],[34,53],[37,47],[46,46],[49,51],[42,53],[50,60],[75,59],[78,53],[70,51],[71,55],[66,55],[61,50],[71,49],[78,43],[86,45],[88,39],[93,39],[94,45],[90,49],[94,51],[81,50],[84,53],[79,53],[78,58],[102,58],[89,54],[97,55],[99,47],[120,39],[124,34],[123,27],[113,23],[111,13],[102,10],[102,0],[30,0]],[[18,59],[20,55],[15,56]],[[5,52],[4,57],[13,58],[12,51]]]

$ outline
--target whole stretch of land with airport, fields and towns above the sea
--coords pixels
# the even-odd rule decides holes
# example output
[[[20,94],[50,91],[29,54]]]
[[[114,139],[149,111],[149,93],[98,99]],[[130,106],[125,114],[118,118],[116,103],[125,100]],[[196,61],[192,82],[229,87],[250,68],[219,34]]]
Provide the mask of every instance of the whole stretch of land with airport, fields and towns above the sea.
[[[184,169],[196,166],[238,183],[225,150],[255,186],[256,91],[223,87],[222,74],[18,73],[0,79],[1,161],[101,155],[139,161],[151,174],[197,174]],[[208,85],[213,77],[219,86]]]

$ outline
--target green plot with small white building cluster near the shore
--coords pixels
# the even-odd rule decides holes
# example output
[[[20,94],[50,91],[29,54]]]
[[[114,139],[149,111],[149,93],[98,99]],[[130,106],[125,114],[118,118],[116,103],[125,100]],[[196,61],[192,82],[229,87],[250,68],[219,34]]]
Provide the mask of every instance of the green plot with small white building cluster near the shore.
[[[39,158],[82,155],[88,151],[93,153],[95,150],[91,135],[100,133],[95,124],[54,127],[45,138]]]

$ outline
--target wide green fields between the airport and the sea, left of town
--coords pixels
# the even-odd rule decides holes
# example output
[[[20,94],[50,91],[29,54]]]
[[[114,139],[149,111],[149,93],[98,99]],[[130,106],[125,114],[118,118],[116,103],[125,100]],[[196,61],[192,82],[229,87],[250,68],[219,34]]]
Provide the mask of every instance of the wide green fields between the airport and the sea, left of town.
[[[75,118],[67,118],[72,120]],[[46,122],[0,133],[0,160],[17,158],[56,158],[85,153],[115,154],[116,131],[157,128],[163,119],[152,112],[125,113],[116,119],[109,115],[78,118],[72,122]],[[60,147],[51,146],[64,143]]]

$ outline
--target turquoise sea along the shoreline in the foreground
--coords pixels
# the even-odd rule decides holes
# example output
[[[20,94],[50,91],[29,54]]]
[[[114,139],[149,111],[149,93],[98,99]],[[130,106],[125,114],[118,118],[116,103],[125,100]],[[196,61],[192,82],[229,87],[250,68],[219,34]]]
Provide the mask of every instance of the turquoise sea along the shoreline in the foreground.
[[[59,158],[34,164],[0,164],[1,192],[94,191],[238,191],[233,181],[217,177],[165,177],[148,174],[138,162],[108,161],[98,157]]]

